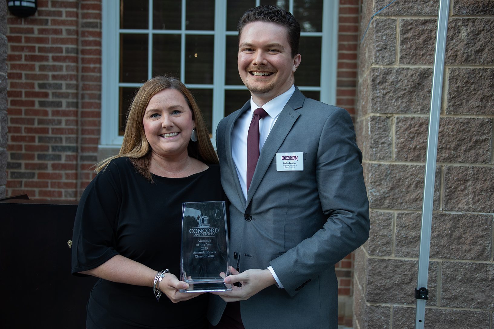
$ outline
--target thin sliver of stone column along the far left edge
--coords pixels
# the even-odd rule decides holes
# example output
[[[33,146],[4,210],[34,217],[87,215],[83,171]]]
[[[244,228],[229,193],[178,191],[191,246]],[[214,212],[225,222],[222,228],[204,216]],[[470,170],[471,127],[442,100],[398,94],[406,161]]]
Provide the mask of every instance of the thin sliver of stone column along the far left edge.
[[[7,2],[0,1],[0,198],[7,181]]]

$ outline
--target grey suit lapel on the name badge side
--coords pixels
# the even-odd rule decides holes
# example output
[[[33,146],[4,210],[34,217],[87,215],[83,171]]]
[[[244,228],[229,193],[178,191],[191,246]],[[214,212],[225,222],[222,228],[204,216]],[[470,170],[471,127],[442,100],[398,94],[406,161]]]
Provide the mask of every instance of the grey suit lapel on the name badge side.
[[[296,87],[295,87],[296,88]],[[296,110],[300,109],[304,103],[305,96],[298,90],[295,92],[288,100],[287,105],[283,108],[280,116],[276,120],[275,125],[271,129],[264,146],[259,154],[259,160],[257,161],[257,166],[255,167],[254,176],[252,176],[252,181],[250,182],[250,187],[247,191],[247,205],[252,200],[252,195],[261,183],[266,170],[271,164],[271,160],[274,158],[276,151],[280,148],[283,141],[287,137],[291,127],[297,120],[300,113]]]

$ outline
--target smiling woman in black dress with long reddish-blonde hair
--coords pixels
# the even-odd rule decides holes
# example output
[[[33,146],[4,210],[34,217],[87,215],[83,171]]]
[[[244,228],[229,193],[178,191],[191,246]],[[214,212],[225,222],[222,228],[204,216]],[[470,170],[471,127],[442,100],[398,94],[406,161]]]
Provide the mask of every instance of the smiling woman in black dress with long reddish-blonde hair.
[[[225,199],[217,163],[187,88],[164,76],[144,83],[120,153],[97,165],[77,210],[72,273],[100,278],[87,329],[206,328],[207,295],[178,292],[188,288],[177,278],[181,209]]]

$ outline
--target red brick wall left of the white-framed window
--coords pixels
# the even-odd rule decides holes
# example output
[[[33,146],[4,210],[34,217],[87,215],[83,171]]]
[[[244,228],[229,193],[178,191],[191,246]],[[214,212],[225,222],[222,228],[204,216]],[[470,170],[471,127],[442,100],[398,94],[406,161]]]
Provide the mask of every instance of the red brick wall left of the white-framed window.
[[[101,3],[39,0],[7,27],[6,195],[77,200],[100,135]]]

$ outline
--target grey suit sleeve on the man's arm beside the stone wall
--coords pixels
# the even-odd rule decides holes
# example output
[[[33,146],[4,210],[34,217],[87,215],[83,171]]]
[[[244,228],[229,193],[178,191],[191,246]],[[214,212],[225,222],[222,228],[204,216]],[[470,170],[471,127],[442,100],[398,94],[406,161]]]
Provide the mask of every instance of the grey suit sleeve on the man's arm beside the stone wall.
[[[316,161],[317,189],[327,221],[312,237],[270,262],[291,296],[369,238],[369,201],[361,163],[351,117],[337,109],[324,124]]]

